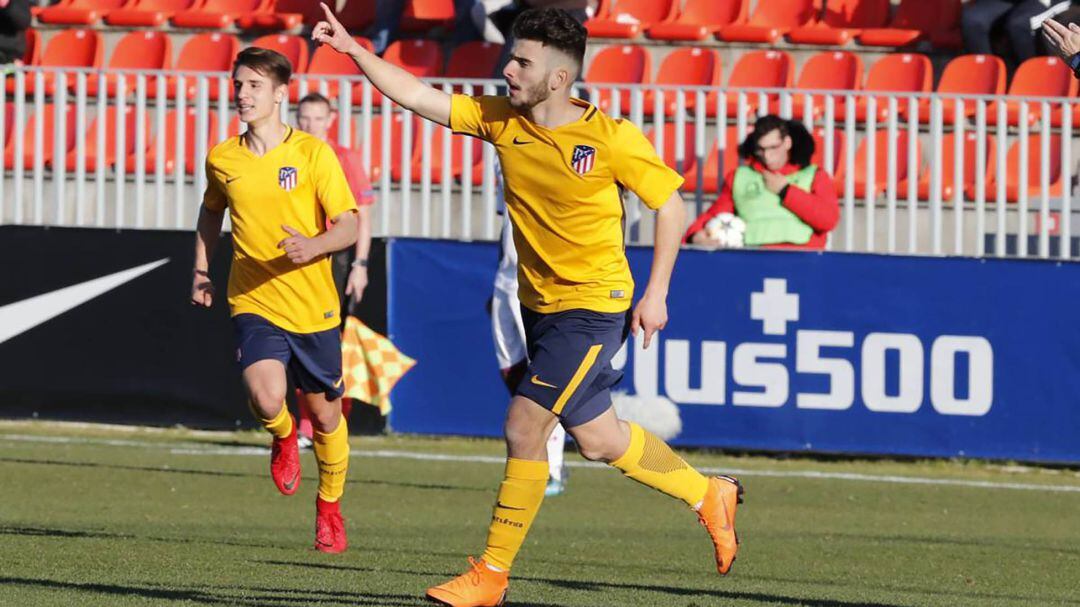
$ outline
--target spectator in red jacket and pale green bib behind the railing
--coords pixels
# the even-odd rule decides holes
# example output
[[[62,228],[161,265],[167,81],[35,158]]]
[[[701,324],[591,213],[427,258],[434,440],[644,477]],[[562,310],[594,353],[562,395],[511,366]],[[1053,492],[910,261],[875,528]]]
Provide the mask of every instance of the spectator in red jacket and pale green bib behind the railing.
[[[824,248],[840,205],[833,177],[810,163],[813,151],[813,137],[802,123],[759,118],[739,146],[743,163],[727,174],[719,198],[694,220],[684,242],[721,246],[706,225],[729,213],[745,222],[747,246]]]

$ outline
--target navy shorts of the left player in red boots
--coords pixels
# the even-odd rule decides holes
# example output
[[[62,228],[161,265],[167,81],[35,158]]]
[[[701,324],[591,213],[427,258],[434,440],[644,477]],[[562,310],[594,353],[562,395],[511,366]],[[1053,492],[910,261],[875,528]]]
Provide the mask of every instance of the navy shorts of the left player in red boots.
[[[345,393],[341,377],[341,332],[292,333],[257,314],[232,318],[237,361],[244,369],[265,360],[281,361],[306,394],[326,394],[327,401]]]

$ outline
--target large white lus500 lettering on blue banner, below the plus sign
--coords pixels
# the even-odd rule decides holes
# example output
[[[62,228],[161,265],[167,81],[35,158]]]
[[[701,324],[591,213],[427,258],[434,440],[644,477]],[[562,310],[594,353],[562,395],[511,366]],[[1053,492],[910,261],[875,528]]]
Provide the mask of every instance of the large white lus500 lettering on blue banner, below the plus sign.
[[[679,404],[727,404],[729,348],[725,341],[700,342],[696,356],[700,373],[693,375],[701,378],[701,383],[691,388],[691,342],[667,339],[643,350],[639,335],[632,374],[636,393],[661,394],[657,346],[662,346],[664,354],[664,395]],[[788,356],[786,343],[734,346],[730,355],[730,378],[735,385],[731,404],[781,407],[792,402]],[[855,356],[858,378],[852,362]],[[962,359],[967,359],[967,365],[959,364]],[[942,335],[926,345],[916,335],[870,333],[856,349],[852,332],[797,331],[794,363],[796,374],[823,377],[828,386],[825,392],[796,393],[795,406],[802,409],[849,409],[858,390],[863,406],[872,412],[912,414],[923,406],[927,383],[930,405],[942,415],[984,416],[994,403],[994,349],[984,337]],[[625,347],[612,364],[616,368],[625,366]],[[890,367],[897,377],[892,390],[887,389],[886,380]]]

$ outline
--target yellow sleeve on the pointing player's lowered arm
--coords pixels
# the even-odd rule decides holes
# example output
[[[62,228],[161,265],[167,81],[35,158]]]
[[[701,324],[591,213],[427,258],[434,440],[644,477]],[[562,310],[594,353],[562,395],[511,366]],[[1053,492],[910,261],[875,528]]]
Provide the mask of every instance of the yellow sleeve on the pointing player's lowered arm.
[[[616,131],[610,165],[616,181],[637,194],[649,208],[663,206],[683,186],[683,176],[664,164],[642,131],[625,120]]]

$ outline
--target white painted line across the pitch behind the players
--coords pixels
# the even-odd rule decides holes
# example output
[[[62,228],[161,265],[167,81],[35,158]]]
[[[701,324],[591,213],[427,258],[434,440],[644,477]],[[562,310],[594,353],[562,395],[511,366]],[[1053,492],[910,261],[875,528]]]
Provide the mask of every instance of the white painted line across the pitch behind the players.
[[[270,449],[258,446],[222,447],[204,443],[166,443],[118,439],[89,439],[77,436],[39,436],[32,434],[0,434],[0,442],[104,445],[111,447],[143,447],[167,449],[173,455],[192,456],[266,456]],[[450,461],[458,463],[490,463],[502,466],[503,457],[432,454],[397,449],[352,449],[351,457],[411,459],[419,461]],[[570,468],[607,468],[594,461],[568,461]],[[862,483],[890,483],[902,485],[937,485],[976,489],[1011,489],[1080,494],[1080,485],[1042,485],[1037,483],[999,483],[994,481],[966,481],[962,478],[931,478],[928,476],[901,476],[895,474],[862,474],[858,472],[826,472],[822,470],[756,470],[742,468],[700,468],[704,474],[733,474],[738,476],[765,476],[770,478],[811,478],[821,481],[854,481]]]

